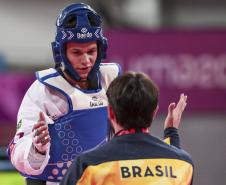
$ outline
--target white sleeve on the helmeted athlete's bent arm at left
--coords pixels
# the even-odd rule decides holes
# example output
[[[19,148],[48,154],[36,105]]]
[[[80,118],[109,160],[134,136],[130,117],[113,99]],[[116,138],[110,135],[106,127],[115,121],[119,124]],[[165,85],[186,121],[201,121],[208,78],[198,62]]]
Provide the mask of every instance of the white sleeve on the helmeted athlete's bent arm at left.
[[[20,172],[29,175],[41,174],[48,164],[49,148],[46,155],[34,151],[32,145],[32,128],[39,119],[39,112],[43,112],[48,124],[53,121],[46,115],[43,102],[48,101],[46,87],[35,81],[28,89],[21,103],[17,116],[17,132],[11,150],[11,162]]]

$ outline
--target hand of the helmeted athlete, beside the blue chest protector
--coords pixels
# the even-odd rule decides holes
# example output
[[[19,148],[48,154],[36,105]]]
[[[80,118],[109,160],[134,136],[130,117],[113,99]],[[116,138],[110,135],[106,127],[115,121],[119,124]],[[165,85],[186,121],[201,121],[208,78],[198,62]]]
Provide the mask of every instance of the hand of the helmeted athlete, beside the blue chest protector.
[[[50,144],[50,135],[48,131],[48,125],[46,123],[43,112],[39,113],[39,120],[33,126],[32,141],[33,141],[35,150],[40,154],[44,155]]]

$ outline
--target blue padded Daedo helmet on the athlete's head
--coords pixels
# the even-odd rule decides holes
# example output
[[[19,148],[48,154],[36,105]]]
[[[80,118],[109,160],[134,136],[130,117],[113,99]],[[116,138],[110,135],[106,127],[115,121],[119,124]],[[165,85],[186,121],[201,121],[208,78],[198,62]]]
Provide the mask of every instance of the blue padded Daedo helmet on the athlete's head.
[[[63,65],[65,71],[76,81],[81,77],[73,69],[66,56],[66,43],[85,43],[97,41],[97,59],[88,80],[92,80],[99,70],[100,62],[106,58],[107,39],[102,34],[101,18],[89,6],[84,3],[75,3],[64,8],[56,21],[56,37],[52,42],[53,57],[56,66]]]

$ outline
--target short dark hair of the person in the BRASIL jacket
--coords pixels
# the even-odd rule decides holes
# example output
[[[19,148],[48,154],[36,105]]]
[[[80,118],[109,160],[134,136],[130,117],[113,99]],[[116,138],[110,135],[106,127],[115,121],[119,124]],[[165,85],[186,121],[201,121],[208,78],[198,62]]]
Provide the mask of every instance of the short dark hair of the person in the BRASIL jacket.
[[[158,96],[157,85],[144,73],[124,73],[107,90],[109,106],[124,129],[150,127]]]

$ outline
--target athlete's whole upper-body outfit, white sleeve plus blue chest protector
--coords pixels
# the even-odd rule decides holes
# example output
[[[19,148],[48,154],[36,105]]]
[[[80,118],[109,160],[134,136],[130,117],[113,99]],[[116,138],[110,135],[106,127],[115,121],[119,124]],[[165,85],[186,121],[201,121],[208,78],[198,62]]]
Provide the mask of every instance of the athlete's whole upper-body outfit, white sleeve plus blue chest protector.
[[[37,80],[23,98],[18,129],[9,145],[16,169],[25,177],[57,184],[78,154],[102,145],[108,129],[106,89],[120,73],[119,65],[102,63],[99,89],[81,90],[53,68],[37,72]],[[36,153],[32,145],[39,112],[44,113],[51,137],[46,155]]]

